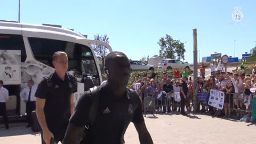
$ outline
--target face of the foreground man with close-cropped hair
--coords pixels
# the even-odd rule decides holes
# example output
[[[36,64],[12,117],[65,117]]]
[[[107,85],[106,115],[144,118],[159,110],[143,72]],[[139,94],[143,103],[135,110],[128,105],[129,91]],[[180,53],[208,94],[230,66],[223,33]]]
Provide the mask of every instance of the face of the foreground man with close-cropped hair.
[[[131,75],[130,61],[124,55],[120,55],[111,61],[108,69],[108,78],[120,86],[126,86]]]

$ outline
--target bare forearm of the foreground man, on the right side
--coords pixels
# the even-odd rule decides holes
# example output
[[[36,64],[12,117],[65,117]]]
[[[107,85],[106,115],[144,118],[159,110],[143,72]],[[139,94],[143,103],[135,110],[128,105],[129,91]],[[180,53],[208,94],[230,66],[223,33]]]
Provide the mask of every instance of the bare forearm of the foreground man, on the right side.
[[[145,121],[140,124],[134,123],[134,126],[139,134],[140,144],[153,144],[153,140],[147,130]]]

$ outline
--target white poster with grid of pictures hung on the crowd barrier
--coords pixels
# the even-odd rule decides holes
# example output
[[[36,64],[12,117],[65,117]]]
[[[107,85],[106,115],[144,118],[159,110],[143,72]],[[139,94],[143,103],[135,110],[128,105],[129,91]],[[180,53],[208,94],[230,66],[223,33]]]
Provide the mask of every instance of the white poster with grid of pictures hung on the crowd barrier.
[[[211,89],[208,105],[218,109],[223,109],[224,100],[225,100],[224,92]]]

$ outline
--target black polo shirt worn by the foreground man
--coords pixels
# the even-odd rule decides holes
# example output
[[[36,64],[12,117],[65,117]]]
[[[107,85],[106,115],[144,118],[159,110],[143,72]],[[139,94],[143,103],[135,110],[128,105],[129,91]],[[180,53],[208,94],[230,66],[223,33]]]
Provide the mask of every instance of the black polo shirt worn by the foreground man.
[[[138,94],[130,95],[127,91],[128,88],[123,97],[116,98],[106,86],[99,86],[98,113],[86,133],[88,134],[86,143],[120,144],[130,122],[140,124],[144,121]],[[70,122],[79,127],[85,126],[89,122],[91,103],[91,95],[87,91],[79,98]]]

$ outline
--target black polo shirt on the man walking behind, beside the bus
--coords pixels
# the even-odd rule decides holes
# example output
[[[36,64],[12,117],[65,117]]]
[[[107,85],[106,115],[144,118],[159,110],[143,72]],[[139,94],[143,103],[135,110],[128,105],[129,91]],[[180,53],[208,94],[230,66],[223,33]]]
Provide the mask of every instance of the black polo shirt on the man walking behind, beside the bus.
[[[70,97],[75,92],[77,92],[76,78],[70,74],[66,74],[65,80],[62,81],[54,72],[38,84],[35,97],[45,99],[45,119],[53,134],[61,132],[62,129],[66,130],[71,115]]]

